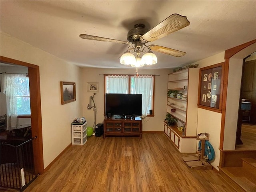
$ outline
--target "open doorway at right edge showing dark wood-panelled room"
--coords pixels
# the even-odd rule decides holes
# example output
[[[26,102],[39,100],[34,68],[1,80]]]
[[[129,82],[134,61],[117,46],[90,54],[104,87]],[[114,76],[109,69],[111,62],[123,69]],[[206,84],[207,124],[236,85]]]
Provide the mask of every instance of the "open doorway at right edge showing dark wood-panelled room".
[[[235,150],[256,150],[256,52],[243,61]]]

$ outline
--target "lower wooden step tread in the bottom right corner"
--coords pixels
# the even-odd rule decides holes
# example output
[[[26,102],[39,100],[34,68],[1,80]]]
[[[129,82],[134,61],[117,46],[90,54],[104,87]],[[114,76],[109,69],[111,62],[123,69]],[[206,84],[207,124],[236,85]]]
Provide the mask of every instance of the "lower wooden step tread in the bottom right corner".
[[[231,184],[237,191],[237,186],[240,186],[246,192],[256,192],[256,176],[254,170],[248,170],[244,167],[224,167],[220,168],[220,176],[224,179],[230,178]],[[226,177],[226,178],[225,178]]]

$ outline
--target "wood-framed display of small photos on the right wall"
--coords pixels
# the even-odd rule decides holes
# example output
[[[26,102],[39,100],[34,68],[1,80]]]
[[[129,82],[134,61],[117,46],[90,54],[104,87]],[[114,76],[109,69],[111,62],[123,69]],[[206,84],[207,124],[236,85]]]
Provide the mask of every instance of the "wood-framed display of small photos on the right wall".
[[[221,112],[224,64],[222,62],[200,68],[198,108]]]

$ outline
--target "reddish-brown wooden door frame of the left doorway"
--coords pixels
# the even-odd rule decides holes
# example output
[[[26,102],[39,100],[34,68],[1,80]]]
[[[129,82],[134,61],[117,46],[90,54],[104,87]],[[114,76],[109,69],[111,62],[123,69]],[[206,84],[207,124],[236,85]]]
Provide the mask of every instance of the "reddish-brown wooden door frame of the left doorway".
[[[37,136],[33,140],[34,165],[36,174],[42,174],[44,172],[44,159],[39,66],[4,56],[0,56],[0,62],[28,67],[32,137]]]

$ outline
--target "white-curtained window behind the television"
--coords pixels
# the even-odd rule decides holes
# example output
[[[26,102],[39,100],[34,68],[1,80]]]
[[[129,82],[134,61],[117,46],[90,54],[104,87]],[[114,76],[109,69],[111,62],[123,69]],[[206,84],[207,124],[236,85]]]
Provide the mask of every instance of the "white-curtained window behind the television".
[[[142,94],[142,118],[154,116],[154,75],[105,75],[105,93]]]

